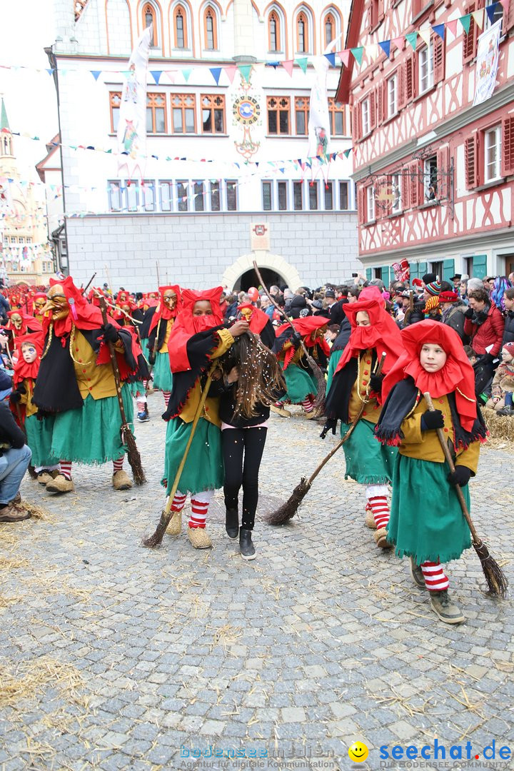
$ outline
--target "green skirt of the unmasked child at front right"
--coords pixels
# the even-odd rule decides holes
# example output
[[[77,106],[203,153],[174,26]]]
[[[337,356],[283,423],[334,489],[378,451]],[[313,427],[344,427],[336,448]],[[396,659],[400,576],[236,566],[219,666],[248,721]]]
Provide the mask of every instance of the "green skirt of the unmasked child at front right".
[[[446,463],[408,458],[398,453],[393,474],[388,541],[396,554],[417,564],[457,560],[471,546],[459,498],[446,477]],[[462,487],[469,509],[469,487]]]

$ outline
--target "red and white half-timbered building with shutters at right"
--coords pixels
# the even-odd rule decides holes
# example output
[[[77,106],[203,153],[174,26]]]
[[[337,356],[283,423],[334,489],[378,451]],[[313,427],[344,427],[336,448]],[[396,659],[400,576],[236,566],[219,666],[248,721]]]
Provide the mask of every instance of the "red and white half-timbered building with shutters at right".
[[[474,105],[479,35],[498,19],[496,86]],[[368,278],[387,283],[403,258],[412,278],[509,274],[514,0],[353,0],[345,47],[361,46],[361,65],[351,56],[341,69],[336,99],[352,106]]]

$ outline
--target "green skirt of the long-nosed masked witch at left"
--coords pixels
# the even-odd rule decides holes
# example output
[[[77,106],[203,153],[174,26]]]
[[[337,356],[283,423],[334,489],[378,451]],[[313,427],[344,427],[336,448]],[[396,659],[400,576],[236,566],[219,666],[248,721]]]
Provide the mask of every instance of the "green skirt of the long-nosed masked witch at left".
[[[134,431],[132,394],[122,385],[123,406],[130,429]],[[119,427],[121,416],[117,396],[93,399],[88,394],[82,409],[69,409],[45,418],[52,423],[52,456],[59,460],[93,465],[118,460],[126,452]]]

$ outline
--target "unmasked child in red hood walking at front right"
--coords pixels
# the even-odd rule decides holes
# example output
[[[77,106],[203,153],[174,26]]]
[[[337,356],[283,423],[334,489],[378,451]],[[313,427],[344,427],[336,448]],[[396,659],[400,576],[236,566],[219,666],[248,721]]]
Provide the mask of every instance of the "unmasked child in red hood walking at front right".
[[[475,400],[475,376],[455,330],[426,320],[406,328],[405,352],[385,378],[388,394],[376,428],[385,446],[398,446],[388,540],[411,558],[415,584],[428,589],[432,609],[447,624],[464,616],[448,597],[441,563],[471,546],[468,524],[453,487],[468,482],[479,463],[486,429]],[[436,407],[429,412],[422,395]],[[435,429],[442,428],[455,457],[450,473]],[[429,505],[427,505],[429,496]]]

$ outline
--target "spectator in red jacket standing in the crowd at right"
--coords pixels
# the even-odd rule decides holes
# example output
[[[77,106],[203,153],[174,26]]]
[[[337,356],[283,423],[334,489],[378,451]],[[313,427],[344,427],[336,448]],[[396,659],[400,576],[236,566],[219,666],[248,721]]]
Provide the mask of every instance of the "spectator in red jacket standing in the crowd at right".
[[[471,346],[479,356],[479,365],[475,368],[475,392],[478,395],[492,378],[493,362],[502,348],[505,320],[485,289],[470,291],[468,300],[464,333],[471,338]]]

